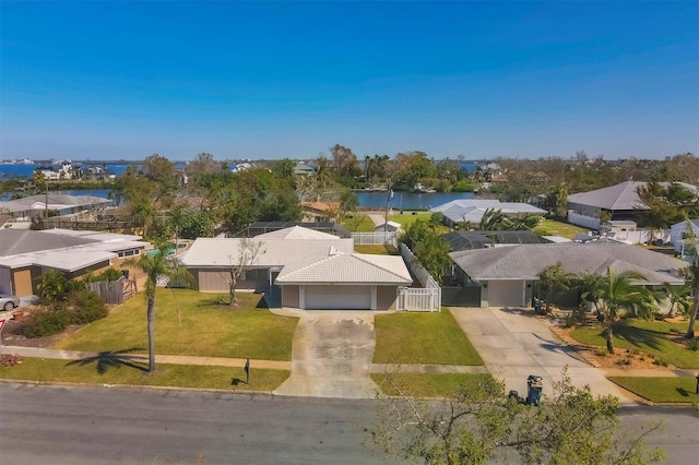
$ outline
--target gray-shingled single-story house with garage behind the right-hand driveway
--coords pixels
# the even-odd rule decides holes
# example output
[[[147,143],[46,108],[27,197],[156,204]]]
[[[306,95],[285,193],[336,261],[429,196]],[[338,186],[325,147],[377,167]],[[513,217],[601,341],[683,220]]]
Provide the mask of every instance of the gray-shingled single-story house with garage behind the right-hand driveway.
[[[538,273],[560,262],[574,274],[606,274],[633,270],[648,281],[644,285],[667,282],[682,285],[679,270],[686,262],[641,247],[624,243],[524,243],[451,252],[449,257],[460,270],[462,284],[481,287],[481,307],[529,307],[535,297]]]

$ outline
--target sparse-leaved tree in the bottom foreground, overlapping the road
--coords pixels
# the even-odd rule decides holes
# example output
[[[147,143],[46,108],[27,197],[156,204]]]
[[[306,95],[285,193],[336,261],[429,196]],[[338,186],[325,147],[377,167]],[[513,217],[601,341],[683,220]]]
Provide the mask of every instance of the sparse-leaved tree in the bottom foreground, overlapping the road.
[[[388,374],[381,388],[371,443],[389,455],[434,465],[507,462],[525,464],[644,464],[660,450],[643,451],[643,439],[662,428],[651,424],[636,438],[619,431],[616,397],[576,388],[562,370],[540,407],[505,396],[505,383],[489,375],[461,384],[445,402],[422,402]]]

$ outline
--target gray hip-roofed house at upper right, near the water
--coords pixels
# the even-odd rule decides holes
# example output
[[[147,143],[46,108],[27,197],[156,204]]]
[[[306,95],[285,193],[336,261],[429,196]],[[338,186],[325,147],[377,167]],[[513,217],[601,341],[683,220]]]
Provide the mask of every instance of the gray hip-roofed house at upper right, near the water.
[[[612,219],[639,218],[648,207],[641,202],[637,190],[644,187],[645,182],[625,181],[608,188],[596,189],[589,192],[579,192],[568,195],[568,222],[573,225],[599,229],[602,212],[606,211]],[[667,187],[670,182],[659,182]],[[696,186],[678,182],[683,188],[697,192]]]

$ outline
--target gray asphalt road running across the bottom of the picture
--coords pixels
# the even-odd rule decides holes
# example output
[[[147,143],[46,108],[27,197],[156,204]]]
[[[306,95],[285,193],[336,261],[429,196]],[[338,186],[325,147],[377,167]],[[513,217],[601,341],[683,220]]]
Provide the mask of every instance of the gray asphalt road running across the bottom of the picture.
[[[379,464],[362,445],[374,401],[0,384],[0,464]],[[625,407],[666,463],[697,463],[699,413]]]

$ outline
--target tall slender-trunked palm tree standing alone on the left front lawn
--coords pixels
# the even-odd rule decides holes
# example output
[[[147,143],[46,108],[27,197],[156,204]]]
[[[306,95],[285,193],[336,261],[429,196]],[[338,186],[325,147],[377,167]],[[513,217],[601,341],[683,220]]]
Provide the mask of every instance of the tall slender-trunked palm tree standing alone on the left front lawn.
[[[149,373],[155,371],[155,288],[157,281],[165,277],[170,282],[189,285],[193,277],[189,271],[173,255],[168,257],[167,245],[161,245],[157,253],[143,254],[139,260],[128,260],[127,266],[134,266],[145,273],[144,296],[147,301],[146,318],[149,330]]]

